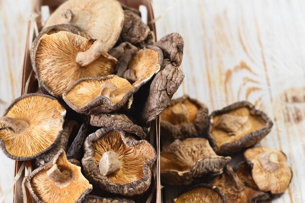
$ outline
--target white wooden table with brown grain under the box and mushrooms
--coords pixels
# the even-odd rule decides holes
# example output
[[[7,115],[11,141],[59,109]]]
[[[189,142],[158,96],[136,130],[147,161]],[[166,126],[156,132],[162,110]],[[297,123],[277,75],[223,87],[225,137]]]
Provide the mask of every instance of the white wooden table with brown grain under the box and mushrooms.
[[[31,0],[0,0],[0,112],[19,95]],[[272,203],[305,202],[305,1],[153,0],[157,36],[185,42],[185,80],[175,97],[210,111],[248,100],[274,121],[262,146],[283,150],[293,178]],[[0,193],[14,162],[0,152]],[[5,203],[11,203],[11,196]]]

